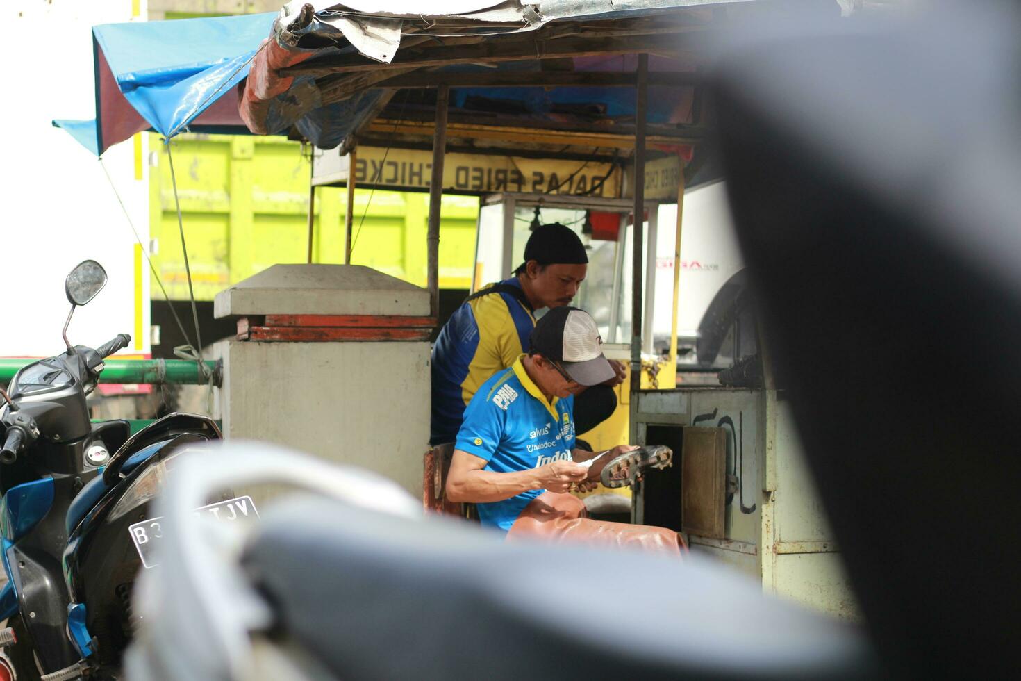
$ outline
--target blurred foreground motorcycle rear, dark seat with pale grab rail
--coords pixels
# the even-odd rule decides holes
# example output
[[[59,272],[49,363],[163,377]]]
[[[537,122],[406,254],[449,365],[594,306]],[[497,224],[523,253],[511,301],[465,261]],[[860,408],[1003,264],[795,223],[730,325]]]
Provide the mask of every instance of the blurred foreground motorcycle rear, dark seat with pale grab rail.
[[[214,489],[259,482],[305,493],[264,507],[248,536],[191,512]],[[424,518],[378,476],[271,445],[184,459],[162,501],[166,542],[141,578],[133,681],[876,672],[856,628],[718,564],[507,544]],[[613,626],[599,593],[626,598]]]

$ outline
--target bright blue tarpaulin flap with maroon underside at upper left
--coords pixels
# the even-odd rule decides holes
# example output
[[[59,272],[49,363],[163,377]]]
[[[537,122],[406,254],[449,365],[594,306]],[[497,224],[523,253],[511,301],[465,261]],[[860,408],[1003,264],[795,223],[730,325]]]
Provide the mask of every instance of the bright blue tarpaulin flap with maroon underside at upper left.
[[[54,120],[99,155],[145,130],[247,132],[238,83],[273,31],[276,12],[93,28],[96,118]],[[216,104],[221,101],[220,105]]]

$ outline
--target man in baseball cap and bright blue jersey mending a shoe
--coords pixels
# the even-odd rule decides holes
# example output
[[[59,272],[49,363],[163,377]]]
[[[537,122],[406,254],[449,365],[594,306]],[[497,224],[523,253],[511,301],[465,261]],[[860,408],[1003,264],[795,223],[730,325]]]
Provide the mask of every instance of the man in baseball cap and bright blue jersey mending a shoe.
[[[483,525],[509,537],[578,539],[679,555],[683,544],[676,532],[590,520],[585,504],[567,493],[598,480],[607,464],[635,449],[620,445],[600,455],[575,447],[576,395],[615,376],[600,344],[595,322],[576,307],[556,307],[539,320],[529,353],[486,381],[465,410],[447,499],[475,503]],[[633,463],[638,470],[650,464]]]

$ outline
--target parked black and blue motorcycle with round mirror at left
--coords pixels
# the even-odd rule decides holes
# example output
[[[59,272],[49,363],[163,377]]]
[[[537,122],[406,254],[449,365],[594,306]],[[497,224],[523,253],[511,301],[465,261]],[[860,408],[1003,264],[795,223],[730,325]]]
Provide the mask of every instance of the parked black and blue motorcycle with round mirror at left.
[[[215,422],[188,414],[134,436],[125,420],[90,422],[86,396],[131,336],[71,346],[67,326],[105,284],[95,260],[71,271],[66,350],[23,367],[9,394],[0,391],[0,681],[117,678],[134,581],[161,538],[150,501],[184,446],[222,438]]]

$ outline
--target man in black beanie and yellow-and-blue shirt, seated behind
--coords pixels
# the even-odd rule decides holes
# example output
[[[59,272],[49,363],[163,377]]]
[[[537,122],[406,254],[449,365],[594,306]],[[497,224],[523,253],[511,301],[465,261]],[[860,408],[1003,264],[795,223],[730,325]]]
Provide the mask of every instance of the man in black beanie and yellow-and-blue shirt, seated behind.
[[[528,348],[533,312],[568,305],[585,279],[588,255],[578,235],[560,224],[537,228],[515,276],[468,297],[440,331],[432,354],[433,445],[453,442],[465,408],[479,387],[510,367]],[[586,390],[576,404],[579,432],[607,419],[617,406],[611,386],[623,381],[615,362],[607,385]]]

